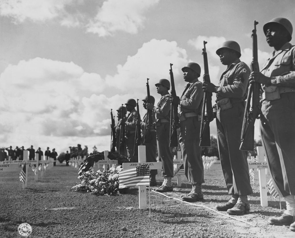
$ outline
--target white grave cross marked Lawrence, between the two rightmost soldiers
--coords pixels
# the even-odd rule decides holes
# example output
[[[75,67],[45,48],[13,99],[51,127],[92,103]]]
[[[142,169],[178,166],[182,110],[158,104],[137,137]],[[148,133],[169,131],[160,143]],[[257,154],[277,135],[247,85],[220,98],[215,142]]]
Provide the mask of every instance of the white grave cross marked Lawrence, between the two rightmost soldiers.
[[[266,170],[268,169],[268,162],[265,161],[262,146],[257,146],[257,158],[257,162],[248,162],[248,165],[249,169],[258,169],[260,205],[262,207],[267,207]]]

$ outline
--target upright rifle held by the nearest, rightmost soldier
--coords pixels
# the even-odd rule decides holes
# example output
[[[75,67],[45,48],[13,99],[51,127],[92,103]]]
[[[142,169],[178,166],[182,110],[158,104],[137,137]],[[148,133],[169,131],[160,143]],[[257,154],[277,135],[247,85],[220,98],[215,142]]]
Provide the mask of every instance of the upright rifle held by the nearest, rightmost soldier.
[[[251,62],[251,72],[259,72],[258,65],[258,47],[256,25],[254,21],[254,29],[251,37],[253,38],[253,59]],[[260,114],[260,83],[252,83],[249,85],[247,102],[244,112],[243,126],[241,132],[240,150],[253,151],[254,150],[254,123],[255,119],[259,119]]]

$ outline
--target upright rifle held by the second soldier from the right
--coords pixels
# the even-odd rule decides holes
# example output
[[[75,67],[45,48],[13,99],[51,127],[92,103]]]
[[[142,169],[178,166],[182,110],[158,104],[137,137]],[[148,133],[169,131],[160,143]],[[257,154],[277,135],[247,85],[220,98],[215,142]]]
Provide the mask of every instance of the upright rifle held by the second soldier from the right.
[[[208,68],[208,58],[206,52],[207,41],[203,41],[203,58],[204,58],[204,75],[203,81],[210,83],[209,68]],[[205,113],[205,110],[207,113]],[[208,121],[205,121],[205,115],[207,115]],[[203,96],[203,106],[202,106],[202,120],[201,120],[201,130],[200,130],[200,144],[201,147],[210,147],[210,121],[213,118],[212,109],[212,93],[204,92]]]

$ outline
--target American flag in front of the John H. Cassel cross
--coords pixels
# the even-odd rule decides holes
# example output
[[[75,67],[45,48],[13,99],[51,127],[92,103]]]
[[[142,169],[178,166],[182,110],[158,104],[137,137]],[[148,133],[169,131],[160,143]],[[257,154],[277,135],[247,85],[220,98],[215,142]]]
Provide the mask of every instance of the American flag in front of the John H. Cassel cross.
[[[132,169],[119,172],[119,188],[137,185],[150,186],[150,166],[140,165]]]

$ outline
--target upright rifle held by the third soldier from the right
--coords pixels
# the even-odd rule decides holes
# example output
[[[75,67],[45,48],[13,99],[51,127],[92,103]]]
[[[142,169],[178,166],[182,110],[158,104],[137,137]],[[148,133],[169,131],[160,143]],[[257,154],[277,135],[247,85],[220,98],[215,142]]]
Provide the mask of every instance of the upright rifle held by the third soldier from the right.
[[[175,85],[174,85],[174,76],[172,72],[172,65],[170,63],[170,81],[171,81],[171,95],[176,96]],[[171,103],[171,114],[170,114],[170,140],[169,140],[169,147],[176,147],[178,146],[178,138],[177,138],[177,128],[179,128],[179,118],[178,118],[178,105]]]

